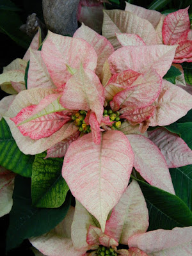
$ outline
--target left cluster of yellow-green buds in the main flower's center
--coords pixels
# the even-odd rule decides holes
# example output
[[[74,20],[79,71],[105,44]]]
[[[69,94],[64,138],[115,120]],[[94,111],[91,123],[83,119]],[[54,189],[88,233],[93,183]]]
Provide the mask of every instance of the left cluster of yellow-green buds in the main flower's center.
[[[80,110],[72,115],[72,120],[74,120],[74,124],[79,127],[80,132],[88,133],[91,132],[90,125],[86,125],[84,122],[84,118],[86,116],[86,111]]]

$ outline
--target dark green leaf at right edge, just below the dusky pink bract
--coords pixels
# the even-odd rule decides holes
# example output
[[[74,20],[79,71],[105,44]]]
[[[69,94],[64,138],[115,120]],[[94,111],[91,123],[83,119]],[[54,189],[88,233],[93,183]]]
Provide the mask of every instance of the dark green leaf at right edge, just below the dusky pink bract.
[[[192,209],[192,165],[170,169],[175,194]]]

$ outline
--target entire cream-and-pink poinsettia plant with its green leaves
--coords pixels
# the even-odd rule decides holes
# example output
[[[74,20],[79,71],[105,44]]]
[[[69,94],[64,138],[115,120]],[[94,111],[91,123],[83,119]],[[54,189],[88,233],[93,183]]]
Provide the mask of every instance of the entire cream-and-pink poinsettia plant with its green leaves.
[[[192,164],[191,146],[172,126],[192,109],[190,85],[175,64],[191,62],[187,9],[164,17],[131,4],[126,8],[131,12],[104,12],[103,35],[82,24],[73,37],[49,31],[41,42],[38,31],[24,58],[0,75],[1,88],[13,93],[0,102],[2,137],[15,143],[13,163],[2,154],[1,165],[31,178],[33,207],[58,209],[68,193],[76,198],[75,214],[71,208],[59,227],[30,239],[45,255],[188,253],[182,244],[191,239],[192,214],[175,196],[169,171]],[[14,156],[9,147],[6,154]],[[31,169],[19,170],[20,161]],[[15,174],[9,176],[4,168],[3,180],[13,184]],[[131,177],[142,191],[135,180],[128,186]],[[2,196],[7,184],[2,184]],[[163,198],[167,205],[159,210]],[[171,220],[164,229],[182,228],[145,233],[150,204]],[[12,198],[9,205],[3,214],[10,211]],[[186,220],[175,209],[186,212]],[[150,242],[153,236],[157,246]],[[180,238],[174,242],[174,236]],[[119,244],[129,250],[117,250]]]

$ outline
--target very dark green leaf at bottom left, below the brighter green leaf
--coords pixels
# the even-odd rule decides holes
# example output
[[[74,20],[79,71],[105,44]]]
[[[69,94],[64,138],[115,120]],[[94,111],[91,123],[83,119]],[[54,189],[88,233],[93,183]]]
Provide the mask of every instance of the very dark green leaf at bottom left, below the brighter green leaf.
[[[71,195],[56,209],[42,209],[31,206],[31,179],[17,175],[13,191],[13,207],[10,212],[10,226],[7,232],[6,250],[9,251],[26,238],[40,236],[56,227],[63,220],[70,207]]]

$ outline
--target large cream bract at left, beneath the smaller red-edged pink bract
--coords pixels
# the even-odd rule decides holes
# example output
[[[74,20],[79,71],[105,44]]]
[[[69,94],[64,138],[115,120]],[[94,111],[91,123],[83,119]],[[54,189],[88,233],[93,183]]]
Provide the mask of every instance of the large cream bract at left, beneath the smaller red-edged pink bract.
[[[72,135],[78,129],[73,122],[68,122],[51,136],[39,140],[32,140],[29,137],[23,136],[14,122],[10,120],[10,117],[16,116],[21,109],[26,108],[26,106],[38,105],[41,100],[52,93],[54,93],[53,90],[49,88],[24,90],[15,97],[15,100],[13,100],[12,105],[4,116],[4,119],[10,126],[13,138],[15,138],[18,147],[24,154],[40,154],[61,140],[65,140],[65,138]]]

